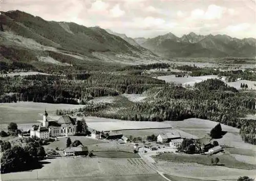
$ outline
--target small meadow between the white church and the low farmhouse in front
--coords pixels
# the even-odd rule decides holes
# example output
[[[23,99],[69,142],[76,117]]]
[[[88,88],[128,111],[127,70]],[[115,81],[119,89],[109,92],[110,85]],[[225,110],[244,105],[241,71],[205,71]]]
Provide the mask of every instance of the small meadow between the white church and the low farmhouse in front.
[[[97,139],[91,139],[88,137],[78,137],[78,136],[70,136],[69,137],[71,139],[72,142],[74,142],[75,140],[79,140],[83,146],[88,146],[88,145],[93,145],[93,144],[98,144],[98,143],[104,143],[103,141],[97,140]],[[59,149],[63,149],[66,148],[66,144],[67,144],[67,138],[66,137],[59,137],[58,141],[54,141],[54,142],[50,142],[49,145],[45,145],[45,148],[51,148],[51,149],[55,149],[56,147],[58,147]]]

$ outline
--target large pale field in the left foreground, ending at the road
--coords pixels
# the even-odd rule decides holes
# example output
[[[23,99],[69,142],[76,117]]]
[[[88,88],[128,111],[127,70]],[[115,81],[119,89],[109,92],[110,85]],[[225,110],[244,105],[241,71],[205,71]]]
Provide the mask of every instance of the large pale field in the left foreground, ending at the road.
[[[102,159],[84,157],[59,157],[45,160],[41,169],[30,172],[2,174],[2,180],[29,179],[72,179],[91,180],[94,177],[151,175],[156,171],[142,159]],[[158,178],[158,177],[157,177]],[[112,180],[112,179],[109,179]],[[118,179],[113,179],[118,180]],[[121,179],[122,180],[122,179]],[[125,180],[125,179],[124,179]],[[161,179],[158,179],[161,180]]]

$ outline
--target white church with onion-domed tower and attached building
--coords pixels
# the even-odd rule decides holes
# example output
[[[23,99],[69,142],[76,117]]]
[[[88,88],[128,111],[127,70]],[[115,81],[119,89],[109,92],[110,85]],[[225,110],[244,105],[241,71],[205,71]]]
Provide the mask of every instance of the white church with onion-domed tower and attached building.
[[[61,116],[57,121],[49,121],[45,111],[42,126],[30,129],[30,137],[49,139],[50,137],[70,136],[76,133],[76,119],[70,116]]]

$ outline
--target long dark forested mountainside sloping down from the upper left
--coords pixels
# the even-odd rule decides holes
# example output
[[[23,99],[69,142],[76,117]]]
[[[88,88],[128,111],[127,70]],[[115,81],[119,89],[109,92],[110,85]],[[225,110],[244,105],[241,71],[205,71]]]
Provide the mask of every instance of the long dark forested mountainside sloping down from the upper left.
[[[18,10],[1,12],[0,40],[1,60],[37,68],[44,63],[82,66],[88,60],[127,63],[155,57],[99,27],[46,21]]]

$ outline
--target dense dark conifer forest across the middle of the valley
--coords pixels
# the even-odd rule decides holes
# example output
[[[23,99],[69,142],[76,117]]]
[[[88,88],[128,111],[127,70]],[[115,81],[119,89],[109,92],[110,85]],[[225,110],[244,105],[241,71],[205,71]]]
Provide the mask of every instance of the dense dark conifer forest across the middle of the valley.
[[[3,63],[3,65],[5,70],[7,64]],[[23,64],[20,66],[20,69],[24,68]],[[241,119],[246,114],[254,114],[255,92],[237,90],[220,79],[207,79],[195,83],[193,88],[185,88],[166,83],[153,78],[151,74],[144,73],[151,69],[168,69],[169,66],[170,64],[167,63],[155,63],[123,66],[109,71],[69,70],[67,72],[58,72],[59,67],[57,66],[56,69],[50,71],[54,74],[50,75],[2,76],[0,77],[0,102],[33,101],[84,104],[84,107],[79,110],[69,112],[57,110],[58,115],[79,113],[133,121],[208,119],[241,128],[240,133],[243,140],[256,144],[255,121]],[[71,70],[73,69],[74,67],[71,68]],[[195,71],[205,71],[199,67],[188,65],[177,66],[176,69],[190,71],[191,73],[187,72],[187,75],[194,75]],[[172,74],[170,71],[169,73]],[[208,73],[207,75],[209,75]],[[225,76],[239,75],[242,77],[251,75],[249,71],[230,71],[222,73],[222,75],[224,74]],[[144,93],[147,99],[135,103],[124,97],[118,97],[114,103],[88,103],[95,97],[119,96],[124,93]]]

